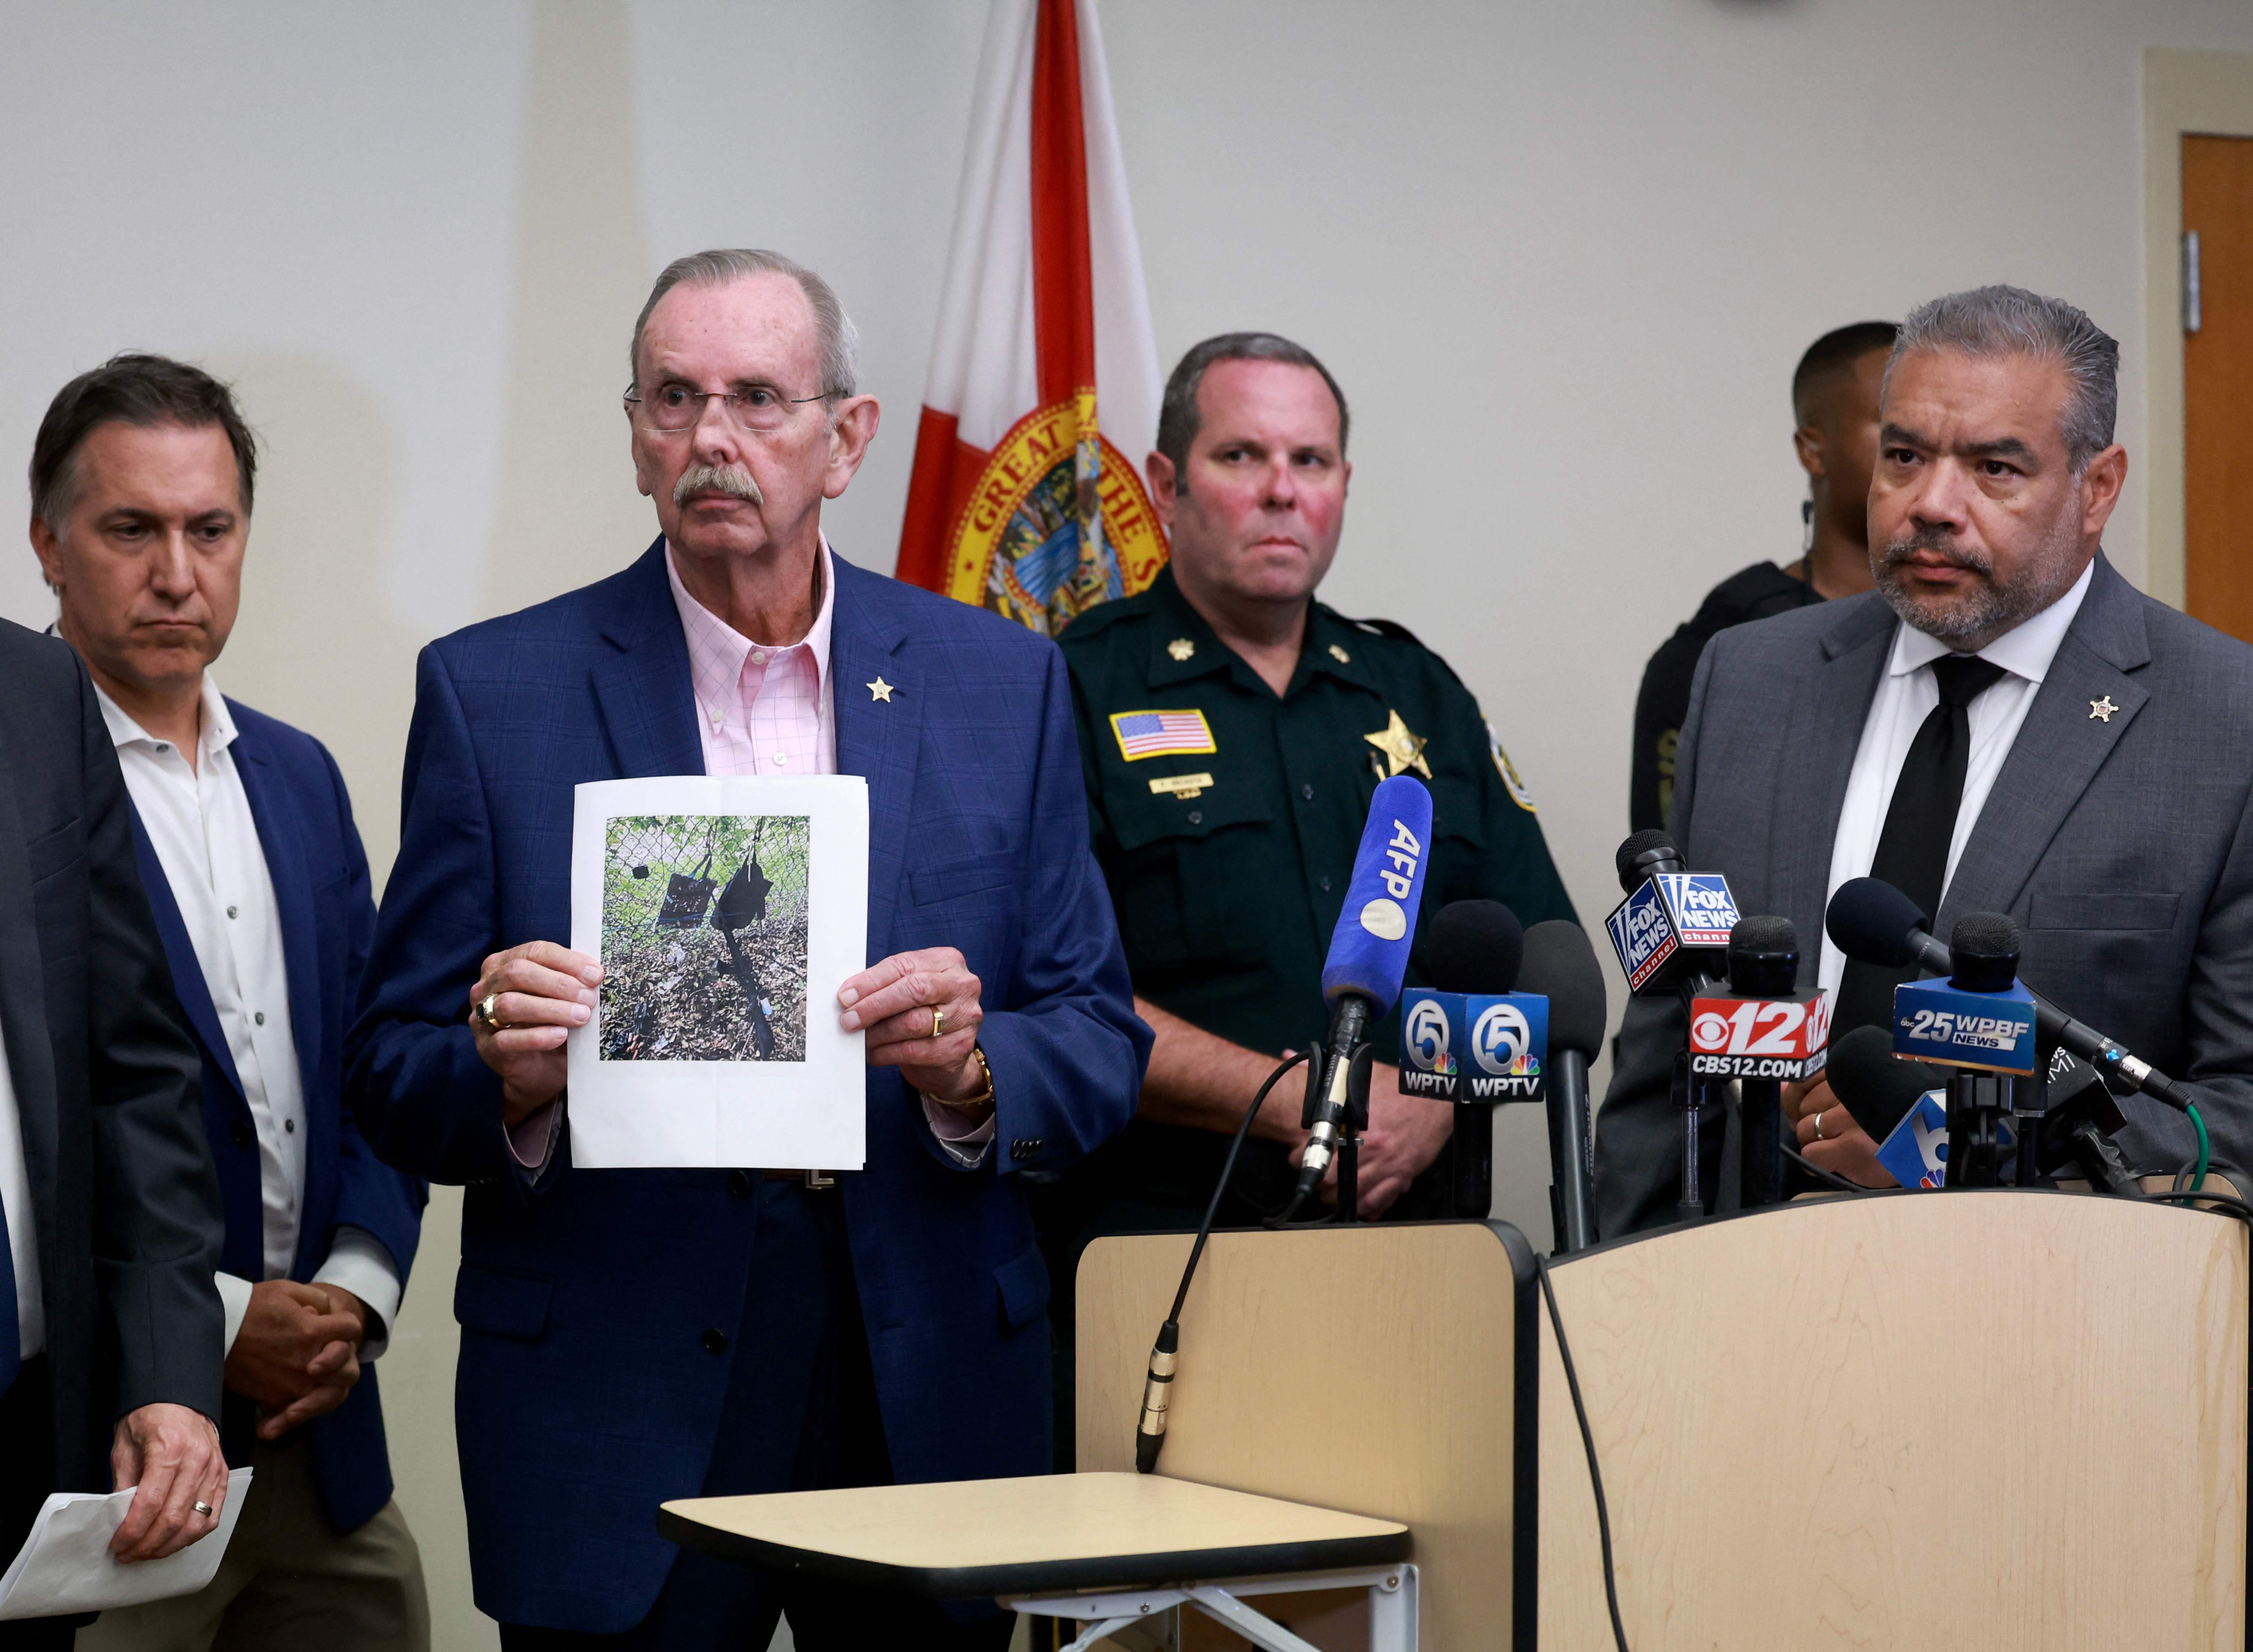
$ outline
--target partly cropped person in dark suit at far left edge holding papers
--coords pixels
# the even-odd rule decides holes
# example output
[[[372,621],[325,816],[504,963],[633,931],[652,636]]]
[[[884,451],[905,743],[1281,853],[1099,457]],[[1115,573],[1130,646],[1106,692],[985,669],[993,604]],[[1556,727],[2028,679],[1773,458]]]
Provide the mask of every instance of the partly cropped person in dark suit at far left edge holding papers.
[[[140,1485],[110,1548],[155,1560],[228,1494],[196,1046],[86,669],[0,622],[0,1555],[50,1492]],[[72,1629],[0,1623],[0,1650]]]

